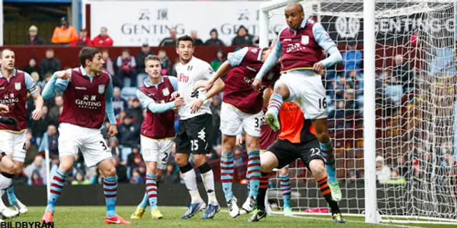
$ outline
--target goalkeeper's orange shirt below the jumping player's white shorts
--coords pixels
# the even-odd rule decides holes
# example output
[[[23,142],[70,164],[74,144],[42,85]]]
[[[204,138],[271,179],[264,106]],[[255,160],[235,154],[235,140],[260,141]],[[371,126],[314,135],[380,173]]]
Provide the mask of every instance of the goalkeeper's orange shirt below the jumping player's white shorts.
[[[305,120],[300,106],[286,101],[279,110],[281,122],[280,140],[288,140],[292,143],[308,142],[316,138],[316,131],[311,120]]]

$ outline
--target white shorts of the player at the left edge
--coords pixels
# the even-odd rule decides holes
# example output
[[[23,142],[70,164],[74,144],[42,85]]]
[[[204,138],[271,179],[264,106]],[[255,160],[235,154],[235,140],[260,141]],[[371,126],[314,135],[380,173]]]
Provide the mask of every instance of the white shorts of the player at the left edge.
[[[13,160],[26,160],[26,130],[14,133],[9,130],[0,130],[0,151],[13,155]]]

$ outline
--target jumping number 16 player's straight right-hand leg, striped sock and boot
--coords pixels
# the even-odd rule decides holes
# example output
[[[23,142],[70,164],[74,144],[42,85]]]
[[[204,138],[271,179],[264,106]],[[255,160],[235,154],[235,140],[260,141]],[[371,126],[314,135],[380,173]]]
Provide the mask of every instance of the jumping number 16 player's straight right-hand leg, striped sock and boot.
[[[313,126],[316,130],[316,137],[319,140],[321,152],[328,173],[328,186],[331,189],[331,195],[335,201],[341,200],[341,190],[336,180],[335,157],[333,155],[333,147],[331,145],[330,136],[328,135],[327,119],[321,118],[313,120]]]

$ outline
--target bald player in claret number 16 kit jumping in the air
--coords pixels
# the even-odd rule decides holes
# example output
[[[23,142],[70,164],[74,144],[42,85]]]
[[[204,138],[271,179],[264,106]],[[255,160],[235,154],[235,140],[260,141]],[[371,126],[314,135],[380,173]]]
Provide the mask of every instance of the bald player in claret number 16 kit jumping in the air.
[[[341,199],[336,181],[335,158],[328,136],[326,90],[321,75],[324,68],[341,61],[341,53],[321,24],[306,19],[299,3],[286,6],[287,27],[279,32],[273,50],[257,73],[254,88],[260,88],[263,74],[281,57],[281,78],[274,86],[265,121],[273,130],[281,126],[278,113],[283,100],[298,100],[305,119],[312,120],[328,172],[333,199]],[[329,54],[325,58],[323,51]],[[282,55],[282,56],[281,56]]]

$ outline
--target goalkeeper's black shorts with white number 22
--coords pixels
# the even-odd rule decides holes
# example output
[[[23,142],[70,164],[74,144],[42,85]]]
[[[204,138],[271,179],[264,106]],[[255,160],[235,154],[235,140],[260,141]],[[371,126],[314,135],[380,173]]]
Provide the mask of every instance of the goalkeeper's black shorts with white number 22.
[[[278,169],[289,165],[300,158],[309,170],[309,163],[318,159],[323,161],[319,140],[316,138],[308,142],[292,143],[288,140],[276,140],[266,151],[270,151],[278,158]]]

